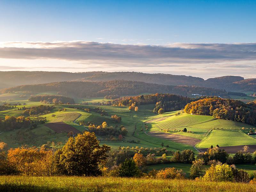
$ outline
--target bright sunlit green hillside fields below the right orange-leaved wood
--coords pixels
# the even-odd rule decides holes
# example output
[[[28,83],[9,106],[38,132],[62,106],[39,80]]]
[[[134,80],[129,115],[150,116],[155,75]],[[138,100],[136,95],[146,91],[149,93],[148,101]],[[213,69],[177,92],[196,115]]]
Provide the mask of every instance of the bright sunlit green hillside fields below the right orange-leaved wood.
[[[149,127],[148,131],[163,132],[167,130],[168,133],[202,140],[196,145],[197,148],[207,148],[217,144],[220,146],[256,144],[256,139],[245,134],[251,129],[255,129],[254,126],[229,120],[213,119],[212,116],[185,113],[176,116],[175,113],[172,113],[169,117],[159,117],[146,123]],[[188,132],[180,132],[184,128]]]

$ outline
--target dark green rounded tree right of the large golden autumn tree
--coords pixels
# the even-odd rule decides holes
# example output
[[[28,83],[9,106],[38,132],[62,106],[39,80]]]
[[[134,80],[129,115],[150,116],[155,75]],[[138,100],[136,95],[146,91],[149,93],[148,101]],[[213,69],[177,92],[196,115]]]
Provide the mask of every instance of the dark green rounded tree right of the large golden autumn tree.
[[[120,165],[120,177],[139,177],[140,174],[140,169],[132,159],[125,159],[125,161]]]

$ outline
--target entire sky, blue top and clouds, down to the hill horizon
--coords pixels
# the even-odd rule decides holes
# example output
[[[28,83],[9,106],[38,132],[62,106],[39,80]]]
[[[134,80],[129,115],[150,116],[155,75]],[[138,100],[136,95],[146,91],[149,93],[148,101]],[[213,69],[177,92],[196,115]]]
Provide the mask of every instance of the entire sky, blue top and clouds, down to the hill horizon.
[[[0,70],[256,78],[256,1],[0,0]]]

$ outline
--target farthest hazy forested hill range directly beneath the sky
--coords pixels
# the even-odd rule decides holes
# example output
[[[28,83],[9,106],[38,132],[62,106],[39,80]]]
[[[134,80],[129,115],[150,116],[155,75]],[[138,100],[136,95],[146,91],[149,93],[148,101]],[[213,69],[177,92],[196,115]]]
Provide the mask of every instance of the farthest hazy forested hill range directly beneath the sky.
[[[225,89],[226,91],[256,92],[256,79],[244,79],[240,76],[223,76],[204,80],[203,78],[171,75],[171,74],[148,74],[138,72],[44,72],[44,71],[0,71],[0,88],[9,88],[23,84],[45,84],[62,81],[112,81],[133,80],[152,84],[164,85],[187,85],[212,87]]]

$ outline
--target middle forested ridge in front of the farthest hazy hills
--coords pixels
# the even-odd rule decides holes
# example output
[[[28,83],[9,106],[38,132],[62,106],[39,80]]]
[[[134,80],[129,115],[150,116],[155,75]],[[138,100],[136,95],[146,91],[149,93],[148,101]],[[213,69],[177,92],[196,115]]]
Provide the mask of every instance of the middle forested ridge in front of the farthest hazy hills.
[[[114,80],[108,82],[56,82],[49,84],[20,85],[0,90],[1,93],[29,92],[36,94],[48,91],[57,91],[61,95],[76,95],[77,97],[101,97],[106,95],[136,95],[142,92],[172,93],[191,96],[192,93],[200,95],[226,96],[224,90],[198,86],[172,86],[149,84],[137,81]]]

